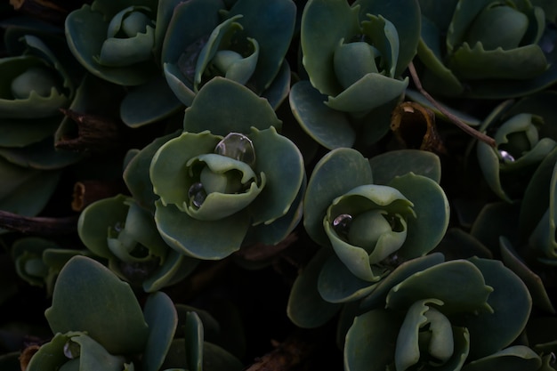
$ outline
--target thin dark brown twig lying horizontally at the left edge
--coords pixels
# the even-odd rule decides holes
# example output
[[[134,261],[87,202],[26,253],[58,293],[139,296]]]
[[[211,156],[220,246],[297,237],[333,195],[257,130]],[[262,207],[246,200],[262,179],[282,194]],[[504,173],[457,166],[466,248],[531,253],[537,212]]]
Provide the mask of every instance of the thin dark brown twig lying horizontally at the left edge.
[[[0,210],[0,228],[25,234],[58,236],[77,230],[78,215],[61,218],[23,216]]]

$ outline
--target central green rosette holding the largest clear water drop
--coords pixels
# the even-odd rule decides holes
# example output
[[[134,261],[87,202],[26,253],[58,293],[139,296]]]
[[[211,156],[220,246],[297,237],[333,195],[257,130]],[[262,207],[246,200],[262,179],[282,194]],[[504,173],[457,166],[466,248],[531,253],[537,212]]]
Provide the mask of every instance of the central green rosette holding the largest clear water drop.
[[[278,134],[281,122],[269,102],[214,77],[186,109],[183,125],[150,163],[165,241],[182,254],[221,259],[245,243],[286,238],[300,220],[303,157]]]

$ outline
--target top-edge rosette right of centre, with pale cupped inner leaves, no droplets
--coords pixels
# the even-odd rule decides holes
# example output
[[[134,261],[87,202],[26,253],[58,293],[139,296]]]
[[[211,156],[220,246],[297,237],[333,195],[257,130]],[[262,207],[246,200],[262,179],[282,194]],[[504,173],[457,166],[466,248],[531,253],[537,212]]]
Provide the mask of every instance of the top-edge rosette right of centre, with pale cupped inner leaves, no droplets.
[[[308,79],[289,98],[303,129],[327,149],[351,147],[360,126],[374,126],[364,133],[378,140],[388,131],[386,111],[408,86],[401,75],[416,55],[419,33],[414,0],[309,1],[300,35]]]

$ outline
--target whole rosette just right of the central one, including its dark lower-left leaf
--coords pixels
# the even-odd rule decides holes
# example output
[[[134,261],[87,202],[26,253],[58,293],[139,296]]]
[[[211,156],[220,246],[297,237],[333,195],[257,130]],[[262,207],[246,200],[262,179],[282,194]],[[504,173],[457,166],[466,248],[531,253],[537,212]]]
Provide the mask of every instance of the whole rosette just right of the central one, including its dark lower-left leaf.
[[[295,280],[289,318],[319,327],[345,304],[369,308],[367,296],[385,281],[442,262],[428,254],[448,228],[439,181],[439,157],[422,150],[368,160],[355,149],[333,149],[322,157],[303,202],[303,225],[321,248]]]

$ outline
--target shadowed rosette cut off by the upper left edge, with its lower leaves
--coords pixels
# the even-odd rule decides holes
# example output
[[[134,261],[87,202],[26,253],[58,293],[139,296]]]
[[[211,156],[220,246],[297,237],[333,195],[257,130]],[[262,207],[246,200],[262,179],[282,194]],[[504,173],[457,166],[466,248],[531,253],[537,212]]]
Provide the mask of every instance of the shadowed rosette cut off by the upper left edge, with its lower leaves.
[[[0,58],[0,209],[38,214],[59,169],[79,158],[56,151],[53,135],[76,94],[76,63],[52,29],[7,26]]]

